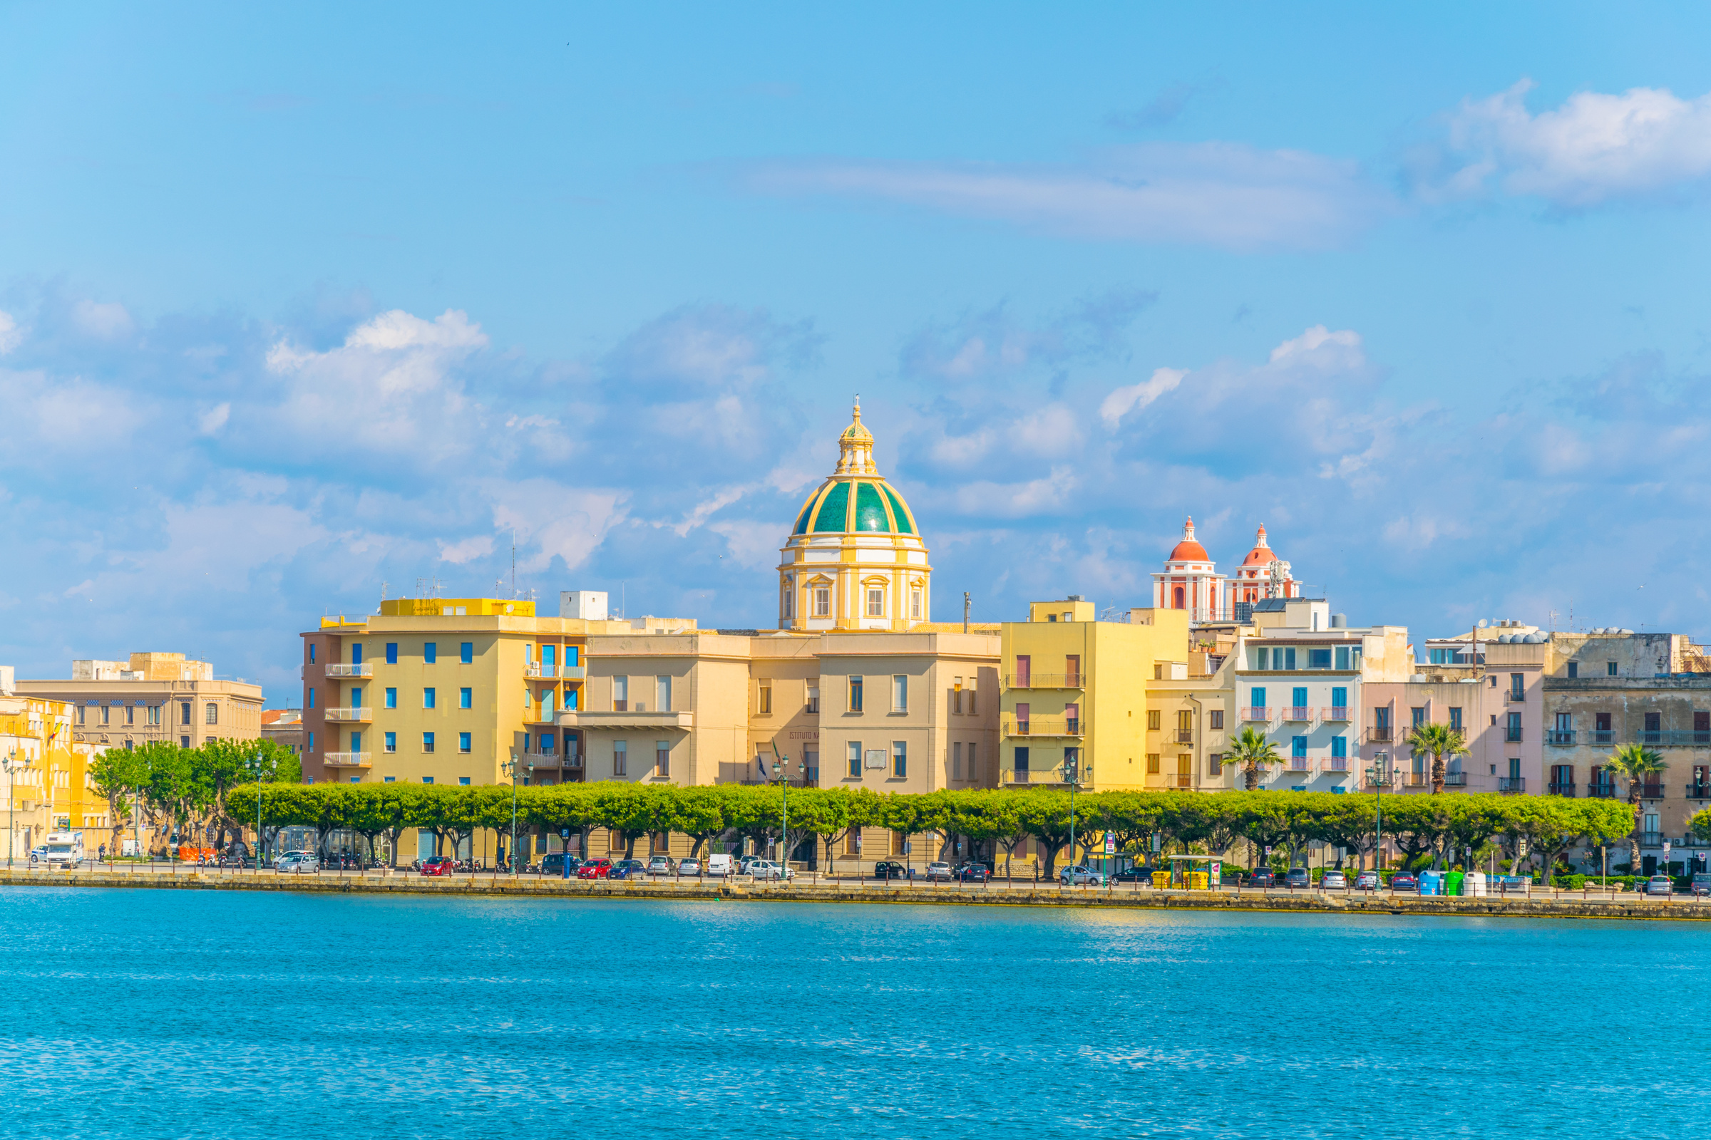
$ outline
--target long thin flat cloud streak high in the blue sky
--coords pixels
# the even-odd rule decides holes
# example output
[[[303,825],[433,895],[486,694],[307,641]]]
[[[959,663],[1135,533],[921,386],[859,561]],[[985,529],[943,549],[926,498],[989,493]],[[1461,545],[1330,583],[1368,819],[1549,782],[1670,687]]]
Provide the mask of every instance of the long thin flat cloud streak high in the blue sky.
[[[777,162],[751,185],[986,217],[1069,238],[1234,250],[1338,244],[1389,210],[1352,162],[1240,144],[1146,144],[1085,166]]]

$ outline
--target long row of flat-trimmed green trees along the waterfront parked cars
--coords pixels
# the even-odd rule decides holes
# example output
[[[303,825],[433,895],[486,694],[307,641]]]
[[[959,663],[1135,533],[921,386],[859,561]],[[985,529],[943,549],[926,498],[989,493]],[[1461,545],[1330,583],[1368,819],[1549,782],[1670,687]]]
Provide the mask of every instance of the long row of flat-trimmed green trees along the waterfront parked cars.
[[[243,784],[226,793],[226,807],[248,820],[260,810],[267,832],[296,826],[327,836],[342,829],[364,836],[371,846],[390,837],[394,851],[407,829],[433,834],[436,849],[445,853],[483,831],[494,832],[496,846],[508,846],[513,810],[520,832],[568,829],[582,839],[583,851],[595,829],[614,832],[626,855],[635,853],[636,839],[655,832],[688,836],[696,855],[713,839],[753,839],[761,846],[782,839],[790,851],[814,841],[833,872],[845,837],[862,827],[932,836],[938,858],[963,837],[991,844],[1008,861],[1025,841],[1035,839],[1045,851],[1047,877],[1059,853],[1069,849],[1071,826],[1073,855],[1081,858],[1102,851],[1107,831],[1126,853],[1148,851],[1158,834],[1165,851],[1227,858],[1240,851],[1249,861],[1266,848],[1294,861],[1312,841],[1367,856],[1379,843],[1374,796],[1292,791],[1088,793],[1075,798],[1073,820],[1069,796],[1049,788],[922,795],[799,788],[789,795],[789,820],[779,788],[625,781],[515,791],[505,784]],[[1608,844],[1632,829],[1627,805],[1612,800],[1384,796],[1382,810],[1384,839],[1417,863],[1437,865],[1461,858],[1470,848],[1475,860],[1494,848],[1514,860],[1525,843],[1528,856],[1550,868],[1569,849]],[[1711,812],[1696,822],[1711,836]]]

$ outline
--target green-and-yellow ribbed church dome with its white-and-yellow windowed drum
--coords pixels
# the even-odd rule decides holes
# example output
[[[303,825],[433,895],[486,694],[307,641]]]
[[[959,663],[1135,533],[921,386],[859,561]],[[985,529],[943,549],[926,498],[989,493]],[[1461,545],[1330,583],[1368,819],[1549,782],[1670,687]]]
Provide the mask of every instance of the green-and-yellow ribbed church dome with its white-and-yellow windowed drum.
[[[859,397],[837,468],[808,496],[779,554],[779,629],[903,631],[929,620],[927,547],[873,461]]]

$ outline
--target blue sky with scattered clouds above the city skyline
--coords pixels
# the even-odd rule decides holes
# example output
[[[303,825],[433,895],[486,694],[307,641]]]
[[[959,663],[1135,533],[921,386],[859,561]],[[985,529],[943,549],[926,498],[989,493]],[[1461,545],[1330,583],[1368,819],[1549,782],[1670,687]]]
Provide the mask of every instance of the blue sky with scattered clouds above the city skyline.
[[[382,593],[775,624],[861,395],[936,620],[1193,514],[1350,624],[1711,638],[1702,5],[0,5],[0,663]]]

